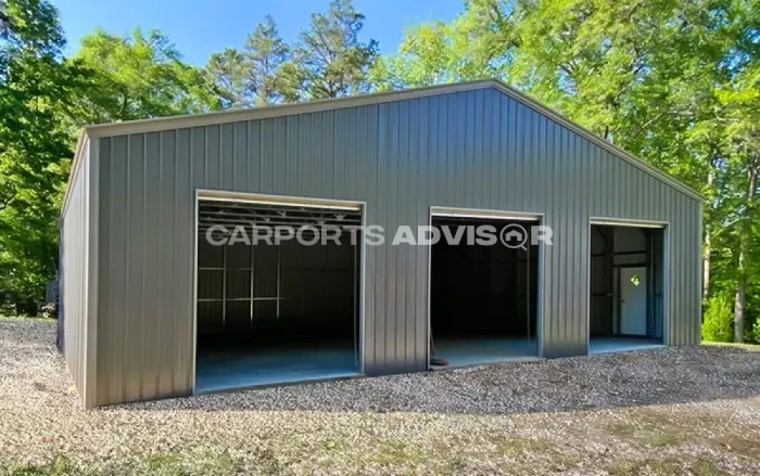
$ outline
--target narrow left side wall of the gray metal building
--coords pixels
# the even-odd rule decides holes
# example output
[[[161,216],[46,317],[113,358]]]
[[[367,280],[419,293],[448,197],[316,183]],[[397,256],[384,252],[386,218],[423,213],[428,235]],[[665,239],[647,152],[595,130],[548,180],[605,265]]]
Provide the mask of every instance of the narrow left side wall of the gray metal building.
[[[88,323],[89,143],[72,178],[72,191],[61,221],[61,304],[63,353],[85,401]]]

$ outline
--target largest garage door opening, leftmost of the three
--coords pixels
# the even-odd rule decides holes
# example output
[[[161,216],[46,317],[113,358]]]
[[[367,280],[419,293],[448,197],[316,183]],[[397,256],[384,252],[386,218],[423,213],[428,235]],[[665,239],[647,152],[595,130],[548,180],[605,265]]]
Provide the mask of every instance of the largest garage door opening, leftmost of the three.
[[[360,209],[201,200],[198,210],[195,393],[358,374]]]

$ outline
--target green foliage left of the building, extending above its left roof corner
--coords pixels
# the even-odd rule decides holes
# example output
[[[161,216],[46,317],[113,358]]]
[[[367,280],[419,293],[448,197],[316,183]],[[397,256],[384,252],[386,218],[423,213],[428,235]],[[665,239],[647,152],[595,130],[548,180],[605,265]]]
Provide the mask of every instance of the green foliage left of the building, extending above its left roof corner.
[[[76,128],[214,108],[203,69],[157,31],[96,30],[73,60],[45,0],[0,3],[0,308],[38,312],[58,268],[58,217]]]

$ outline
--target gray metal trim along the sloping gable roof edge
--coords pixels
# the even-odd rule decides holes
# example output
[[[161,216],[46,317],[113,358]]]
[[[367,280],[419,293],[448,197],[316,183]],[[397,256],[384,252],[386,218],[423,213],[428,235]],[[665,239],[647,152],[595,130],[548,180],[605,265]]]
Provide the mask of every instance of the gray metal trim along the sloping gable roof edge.
[[[153,119],[127,120],[122,123],[110,123],[86,126],[83,129],[81,136],[88,138],[123,136],[130,133],[156,132],[168,129],[180,129],[188,127],[212,126],[218,124],[237,123],[244,120],[266,119],[273,117],[281,117],[295,114],[317,113],[324,111],[341,110],[347,107],[357,107],[365,105],[381,104],[394,101],[404,101],[417,98],[426,98],[440,94],[451,94],[455,92],[473,91],[480,89],[496,89],[507,97],[518,101],[524,106],[537,112],[539,114],[554,120],[555,123],[566,127],[577,134],[585,138],[590,142],[611,153],[616,157],[628,162],[642,171],[657,178],[658,180],[679,190],[683,194],[702,201],[702,196],[694,189],[682,183],[672,176],[651,166],[643,159],[625,152],[617,145],[601,139],[584,127],[573,123],[559,113],[541,104],[527,94],[517,89],[497,80],[483,79],[469,82],[456,82],[448,85],[430,86],[425,88],[405,89],[400,91],[377,92],[371,94],[362,94],[349,98],[334,98],[319,101],[294,104],[276,104],[270,106],[254,107],[249,110],[223,111],[205,114],[191,114],[182,116],[160,117]],[[76,159],[77,157],[75,157]],[[68,191],[66,191],[68,193]]]

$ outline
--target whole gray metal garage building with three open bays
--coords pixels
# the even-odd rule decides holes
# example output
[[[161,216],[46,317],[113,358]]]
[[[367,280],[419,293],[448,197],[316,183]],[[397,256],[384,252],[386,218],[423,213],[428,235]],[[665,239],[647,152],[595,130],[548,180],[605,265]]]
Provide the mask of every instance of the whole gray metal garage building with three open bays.
[[[553,241],[203,240],[255,220]],[[93,407],[425,371],[433,353],[694,345],[700,236],[698,194],[495,80],[91,126],[61,220],[64,355]]]

